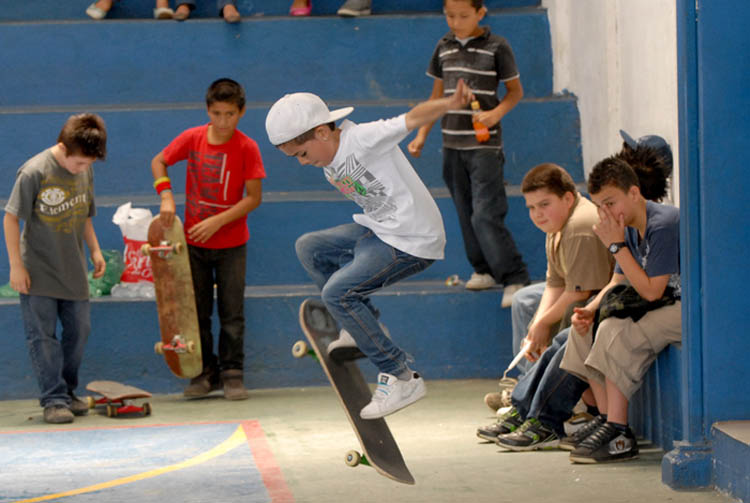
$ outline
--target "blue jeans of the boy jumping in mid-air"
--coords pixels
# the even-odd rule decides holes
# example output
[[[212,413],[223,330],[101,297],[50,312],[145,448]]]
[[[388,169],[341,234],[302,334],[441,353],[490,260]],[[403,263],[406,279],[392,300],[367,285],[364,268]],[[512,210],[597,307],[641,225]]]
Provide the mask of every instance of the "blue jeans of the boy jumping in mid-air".
[[[369,295],[426,269],[434,261],[384,243],[367,227],[344,224],[297,239],[297,257],[331,316],[380,370],[399,375],[411,357],[386,337]]]

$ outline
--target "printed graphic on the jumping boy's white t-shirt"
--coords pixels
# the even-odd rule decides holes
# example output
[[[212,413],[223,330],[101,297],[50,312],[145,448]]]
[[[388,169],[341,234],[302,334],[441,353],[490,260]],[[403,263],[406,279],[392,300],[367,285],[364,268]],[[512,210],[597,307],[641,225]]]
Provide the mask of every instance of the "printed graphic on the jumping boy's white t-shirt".
[[[376,222],[393,218],[396,205],[385,186],[359,162],[354,154],[342,166],[326,170],[328,181],[359,205]]]

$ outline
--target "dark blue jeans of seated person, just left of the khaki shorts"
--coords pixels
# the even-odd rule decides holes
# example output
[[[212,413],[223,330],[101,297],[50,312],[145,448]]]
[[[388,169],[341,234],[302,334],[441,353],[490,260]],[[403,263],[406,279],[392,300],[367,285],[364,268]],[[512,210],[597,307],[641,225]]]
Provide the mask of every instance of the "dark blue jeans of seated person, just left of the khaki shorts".
[[[553,339],[547,350],[519,379],[511,401],[524,419],[536,418],[558,435],[565,436],[563,424],[586,388],[586,381],[560,368],[570,328]]]

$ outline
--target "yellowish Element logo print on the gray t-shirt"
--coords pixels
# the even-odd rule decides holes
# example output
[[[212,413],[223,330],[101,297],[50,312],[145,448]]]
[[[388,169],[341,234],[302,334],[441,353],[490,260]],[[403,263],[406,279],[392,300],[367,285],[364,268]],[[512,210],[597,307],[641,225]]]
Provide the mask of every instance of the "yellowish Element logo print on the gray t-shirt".
[[[90,197],[82,180],[49,177],[42,180],[34,212],[55,232],[71,233],[88,218]]]

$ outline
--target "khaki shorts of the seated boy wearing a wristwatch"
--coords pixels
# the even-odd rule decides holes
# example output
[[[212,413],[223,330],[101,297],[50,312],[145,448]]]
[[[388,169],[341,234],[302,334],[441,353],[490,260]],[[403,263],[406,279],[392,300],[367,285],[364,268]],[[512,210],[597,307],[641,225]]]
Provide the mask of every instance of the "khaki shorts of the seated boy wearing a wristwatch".
[[[583,336],[571,330],[560,368],[602,385],[606,377],[630,399],[659,352],[682,341],[681,307],[677,301],[649,311],[637,322],[607,318],[599,324],[593,346],[591,330]]]

